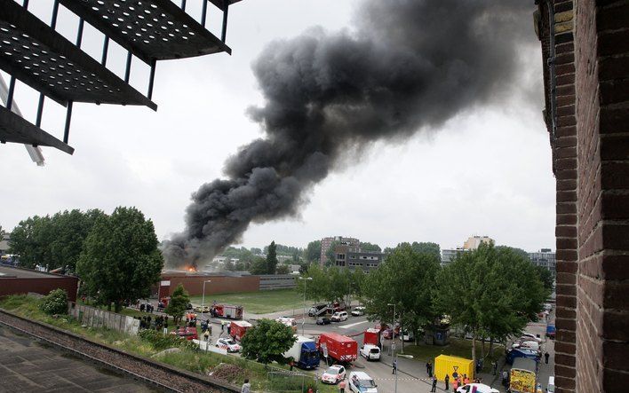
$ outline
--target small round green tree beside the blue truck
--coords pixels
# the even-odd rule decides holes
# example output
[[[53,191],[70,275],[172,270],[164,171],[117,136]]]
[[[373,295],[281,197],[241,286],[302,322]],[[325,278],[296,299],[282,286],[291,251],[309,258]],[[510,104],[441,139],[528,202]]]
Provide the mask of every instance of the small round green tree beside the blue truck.
[[[291,349],[295,340],[291,326],[271,319],[259,319],[258,325],[249,328],[243,337],[243,357],[263,364],[283,362],[283,353]]]

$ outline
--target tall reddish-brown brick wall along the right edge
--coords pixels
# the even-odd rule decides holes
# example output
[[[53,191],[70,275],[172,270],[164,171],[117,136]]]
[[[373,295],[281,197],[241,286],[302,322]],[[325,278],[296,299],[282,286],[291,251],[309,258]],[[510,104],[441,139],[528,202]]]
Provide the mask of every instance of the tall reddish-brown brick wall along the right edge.
[[[539,3],[543,18],[545,2]],[[557,178],[555,381],[560,393],[625,391],[629,0],[552,3],[558,126],[551,138]],[[549,29],[539,30],[546,56]],[[552,94],[549,79],[545,70],[546,93]],[[549,105],[546,100],[546,112]]]

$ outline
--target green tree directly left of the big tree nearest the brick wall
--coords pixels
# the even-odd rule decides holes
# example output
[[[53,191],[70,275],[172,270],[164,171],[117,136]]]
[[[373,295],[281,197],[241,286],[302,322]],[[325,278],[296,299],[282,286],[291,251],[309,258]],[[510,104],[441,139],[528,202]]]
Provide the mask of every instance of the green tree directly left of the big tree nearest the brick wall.
[[[410,245],[395,248],[385,263],[370,271],[362,282],[362,300],[370,318],[390,321],[395,304],[396,320],[418,337],[419,328],[435,317],[434,280],[439,261],[432,254],[418,254]]]

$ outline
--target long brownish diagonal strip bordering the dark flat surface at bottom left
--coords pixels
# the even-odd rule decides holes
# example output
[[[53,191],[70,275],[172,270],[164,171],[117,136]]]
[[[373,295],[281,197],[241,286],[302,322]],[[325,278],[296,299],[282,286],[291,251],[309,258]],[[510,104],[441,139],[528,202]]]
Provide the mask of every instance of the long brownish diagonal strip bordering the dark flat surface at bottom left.
[[[21,318],[5,310],[0,310],[0,324],[164,391],[181,393],[240,391],[227,384],[203,378],[201,375],[187,373],[154,360],[131,355],[56,327]]]

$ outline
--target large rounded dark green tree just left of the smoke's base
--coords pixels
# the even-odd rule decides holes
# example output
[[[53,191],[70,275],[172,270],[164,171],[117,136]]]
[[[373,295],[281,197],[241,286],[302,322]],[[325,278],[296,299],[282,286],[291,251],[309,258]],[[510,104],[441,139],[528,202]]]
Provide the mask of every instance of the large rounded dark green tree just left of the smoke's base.
[[[76,263],[86,293],[116,311],[125,300],[148,297],[163,267],[157,245],[153,223],[137,208],[97,217]]]

